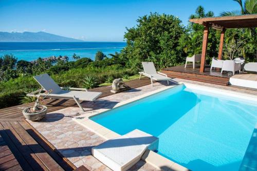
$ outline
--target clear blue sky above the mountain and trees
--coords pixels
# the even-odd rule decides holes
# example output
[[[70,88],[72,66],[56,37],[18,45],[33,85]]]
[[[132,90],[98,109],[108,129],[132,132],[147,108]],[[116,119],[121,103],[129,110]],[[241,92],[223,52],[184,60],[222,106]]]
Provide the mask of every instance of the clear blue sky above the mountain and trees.
[[[238,9],[232,0],[0,0],[0,31],[45,31],[84,41],[123,41],[125,27],[150,12],[178,16],[183,25],[197,6],[215,15]]]

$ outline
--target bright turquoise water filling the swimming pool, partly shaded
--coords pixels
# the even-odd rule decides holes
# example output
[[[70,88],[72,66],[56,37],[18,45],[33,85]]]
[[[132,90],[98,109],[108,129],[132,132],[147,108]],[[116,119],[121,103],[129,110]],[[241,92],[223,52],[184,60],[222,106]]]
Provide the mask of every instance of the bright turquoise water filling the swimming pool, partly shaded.
[[[124,135],[140,129],[159,138],[158,154],[191,170],[238,170],[257,105],[184,85],[106,111],[91,120]]]

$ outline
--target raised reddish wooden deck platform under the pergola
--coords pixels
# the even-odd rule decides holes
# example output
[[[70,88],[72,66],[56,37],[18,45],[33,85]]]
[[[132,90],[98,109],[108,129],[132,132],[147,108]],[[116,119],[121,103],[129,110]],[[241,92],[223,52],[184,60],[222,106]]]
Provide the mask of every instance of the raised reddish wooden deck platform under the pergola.
[[[171,78],[180,78],[225,86],[228,85],[229,78],[233,76],[232,72],[224,71],[221,73],[220,70],[210,71],[209,65],[206,65],[205,72],[200,72],[199,64],[196,64],[195,68],[193,68],[192,65],[187,65],[187,68],[185,68],[185,65],[164,68],[161,72],[168,74]]]

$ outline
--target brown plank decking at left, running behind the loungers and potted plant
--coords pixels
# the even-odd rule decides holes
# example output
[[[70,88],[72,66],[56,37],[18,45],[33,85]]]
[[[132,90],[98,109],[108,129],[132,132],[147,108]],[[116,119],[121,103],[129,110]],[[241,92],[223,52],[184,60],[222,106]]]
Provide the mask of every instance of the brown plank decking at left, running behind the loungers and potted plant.
[[[131,88],[151,84],[148,78],[126,82]],[[112,86],[104,86],[90,91],[102,92],[99,98],[110,96]],[[34,103],[0,109],[0,170],[87,170],[77,168],[58,153],[38,131],[23,117],[22,110]],[[73,100],[46,99],[48,112],[75,106]]]

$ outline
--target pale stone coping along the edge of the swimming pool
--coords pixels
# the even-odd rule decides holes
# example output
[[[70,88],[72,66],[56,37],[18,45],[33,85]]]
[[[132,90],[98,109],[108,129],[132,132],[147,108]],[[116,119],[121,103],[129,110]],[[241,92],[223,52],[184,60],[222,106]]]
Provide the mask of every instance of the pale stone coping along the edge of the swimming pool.
[[[251,101],[256,101],[257,102],[257,96],[253,95],[253,94],[248,94],[248,93],[243,93],[243,92],[236,92],[236,91],[232,91],[232,90],[225,90],[225,89],[221,89],[221,88],[215,88],[215,87],[208,87],[208,86],[203,86],[203,85],[196,85],[196,84],[191,84],[191,83],[185,83],[185,82],[179,82],[178,85],[173,85],[173,86],[167,86],[167,87],[163,87],[160,88],[158,90],[154,90],[145,94],[142,94],[138,97],[134,97],[125,101],[122,101],[118,104],[116,104],[113,108],[116,107],[120,107],[123,105],[126,105],[128,103],[149,97],[155,93],[167,90],[167,89],[171,89],[180,85],[185,85],[188,88],[192,88],[193,89],[197,89],[197,90],[205,90],[207,92],[211,92],[211,93],[217,93],[217,94],[224,94],[227,95],[229,97],[235,97],[237,99],[244,99],[244,100],[251,100]],[[238,98],[239,97],[239,98]],[[97,109],[94,112],[91,113],[87,113],[85,115],[82,115],[80,117],[77,118],[73,118],[72,120],[74,120],[75,122],[79,123],[80,125],[86,127],[87,129],[89,129],[90,131],[93,131],[95,134],[99,135],[100,137],[104,138],[105,140],[109,140],[109,139],[114,139],[116,137],[119,137],[121,135],[117,134],[116,132],[90,120],[91,117],[93,116],[97,116],[97,115],[101,115],[103,112],[107,111],[107,110],[111,110],[111,109]],[[188,168],[179,165],[176,162],[173,162],[170,159],[167,159],[157,153],[155,153],[154,151],[151,150],[146,150],[145,153],[143,154],[142,160],[144,160],[146,163],[149,163],[151,165],[153,165],[154,167],[163,170],[163,171],[170,171],[170,170],[174,170],[174,171],[186,171],[189,170]]]

